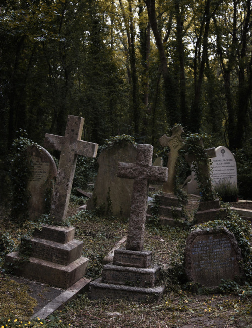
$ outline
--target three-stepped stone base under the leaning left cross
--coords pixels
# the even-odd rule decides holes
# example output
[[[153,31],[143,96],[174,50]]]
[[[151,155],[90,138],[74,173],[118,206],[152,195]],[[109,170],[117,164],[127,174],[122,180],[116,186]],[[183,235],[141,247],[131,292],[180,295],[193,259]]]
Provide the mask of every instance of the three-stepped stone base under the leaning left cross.
[[[85,275],[88,265],[88,259],[81,256],[83,243],[73,239],[74,232],[75,228],[62,226],[36,229],[33,238],[23,240],[20,255],[6,255],[5,268],[27,279],[70,287]],[[22,254],[29,258],[24,260]]]

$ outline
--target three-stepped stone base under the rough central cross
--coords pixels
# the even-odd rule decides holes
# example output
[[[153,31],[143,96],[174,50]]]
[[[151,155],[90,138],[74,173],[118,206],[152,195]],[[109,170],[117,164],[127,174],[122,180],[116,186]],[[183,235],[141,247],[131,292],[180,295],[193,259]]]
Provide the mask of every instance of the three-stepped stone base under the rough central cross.
[[[151,256],[150,251],[115,250],[113,263],[106,264],[101,278],[90,284],[90,298],[159,301],[164,287],[155,283],[161,268],[151,266]]]

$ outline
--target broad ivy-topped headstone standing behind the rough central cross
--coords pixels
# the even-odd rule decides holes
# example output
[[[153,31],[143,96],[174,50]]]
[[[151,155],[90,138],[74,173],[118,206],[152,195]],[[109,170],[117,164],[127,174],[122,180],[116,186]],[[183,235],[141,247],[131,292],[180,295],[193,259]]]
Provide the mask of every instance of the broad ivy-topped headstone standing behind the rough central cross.
[[[98,157],[99,169],[92,198],[87,202],[87,210],[104,206],[104,212],[117,217],[129,217],[133,180],[117,176],[118,162],[134,163],[137,147],[123,141],[105,149]]]

